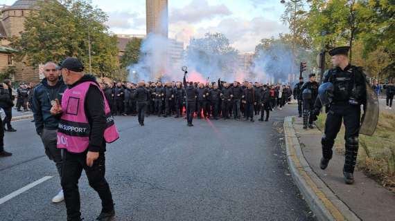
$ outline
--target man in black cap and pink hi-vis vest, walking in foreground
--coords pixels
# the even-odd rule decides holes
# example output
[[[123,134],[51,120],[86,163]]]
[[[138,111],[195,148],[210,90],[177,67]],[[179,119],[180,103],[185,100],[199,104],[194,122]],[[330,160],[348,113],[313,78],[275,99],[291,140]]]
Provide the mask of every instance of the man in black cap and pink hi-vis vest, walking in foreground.
[[[97,220],[112,220],[115,212],[105,180],[105,144],[117,140],[119,133],[95,77],[84,75],[84,66],[76,58],[65,59],[60,68],[68,88],[62,104],[54,102],[51,114],[60,117],[57,146],[64,149],[61,183],[67,220],[81,220],[78,180],[82,170],[102,201]]]

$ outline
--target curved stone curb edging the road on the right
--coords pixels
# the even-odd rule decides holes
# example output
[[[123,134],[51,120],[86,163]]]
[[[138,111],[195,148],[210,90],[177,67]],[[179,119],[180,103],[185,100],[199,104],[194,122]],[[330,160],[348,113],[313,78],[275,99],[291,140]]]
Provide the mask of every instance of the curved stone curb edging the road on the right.
[[[317,220],[360,220],[314,173],[304,158],[295,129],[294,117],[284,119],[287,162],[292,178]]]

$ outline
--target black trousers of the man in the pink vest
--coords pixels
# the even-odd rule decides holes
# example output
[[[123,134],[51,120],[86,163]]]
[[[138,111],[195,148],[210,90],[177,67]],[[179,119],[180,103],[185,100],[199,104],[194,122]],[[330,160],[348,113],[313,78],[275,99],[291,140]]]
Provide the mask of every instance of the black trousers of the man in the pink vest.
[[[87,174],[89,186],[99,195],[102,211],[114,210],[112,193],[105,180],[105,153],[99,153],[99,157],[94,161],[94,165],[87,166],[87,151],[83,153],[70,153],[64,151],[62,189],[64,202],[67,209],[67,220],[80,220],[80,192],[78,191],[78,180],[80,180],[82,170]]]

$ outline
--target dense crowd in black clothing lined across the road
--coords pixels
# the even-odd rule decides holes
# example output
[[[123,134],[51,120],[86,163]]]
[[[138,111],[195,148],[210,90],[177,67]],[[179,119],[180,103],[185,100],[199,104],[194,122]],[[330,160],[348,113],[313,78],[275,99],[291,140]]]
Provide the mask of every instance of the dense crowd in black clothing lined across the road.
[[[259,121],[268,121],[270,111],[281,108],[290,102],[292,90],[289,85],[261,84],[259,82],[234,81],[229,84],[225,81],[200,83],[172,81],[161,82],[113,83],[100,84],[109,102],[113,115],[137,115],[143,108],[146,115],[159,117],[182,117],[186,106],[192,111],[192,117],[211,119],[238,120],[241,116],[245,120],[254,122],[258,115]],[[186,88],[193,91],[191,100],[186,104]],[[137,90],[144,88],[145,97],[141,97]],[[145,105],[142,107],[142,103]],[[139,108],[140,106],[140,108]],[[141,112],[141,111],[140,111]],[[266,113],[266,117],[265,116]],[[140,116],[139,116],[140,117]],[[140,122],[140,119],[139,119]],[[141,124],[141,122],[140,122]]]

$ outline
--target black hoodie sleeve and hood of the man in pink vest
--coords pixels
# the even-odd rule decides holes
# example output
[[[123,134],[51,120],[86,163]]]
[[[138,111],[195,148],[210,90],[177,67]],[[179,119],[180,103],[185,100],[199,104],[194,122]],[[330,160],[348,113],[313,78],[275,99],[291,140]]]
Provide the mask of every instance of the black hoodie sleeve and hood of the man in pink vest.
[[[105,151],[105,140],[104,131],[107,127],[105,111],[104,111],[104,99],[103,93],[98,88],[96,77],[93,75],[84,75],[76,83],[69,85],[68,88],[73,88],[78,84],[92,81],[96,86],[89,86],[87,95],[85,95],[85,115],[87,116],[89,126],[91,127],[91,133],[89,135],[89,146],[88,151],[91,152],[104,152]]]

